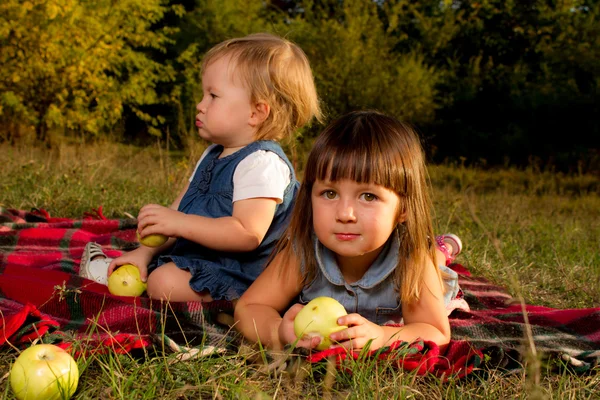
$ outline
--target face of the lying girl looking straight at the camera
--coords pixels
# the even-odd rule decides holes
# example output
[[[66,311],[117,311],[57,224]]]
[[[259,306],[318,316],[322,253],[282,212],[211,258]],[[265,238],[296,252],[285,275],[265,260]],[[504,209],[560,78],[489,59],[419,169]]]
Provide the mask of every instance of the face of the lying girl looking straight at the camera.
[[[315,233],[337,254],[340,268],[344,263],[360,264],[361,259],[370,265],[401,222],[400,197],[373,183],[317,180],[311,201]]]

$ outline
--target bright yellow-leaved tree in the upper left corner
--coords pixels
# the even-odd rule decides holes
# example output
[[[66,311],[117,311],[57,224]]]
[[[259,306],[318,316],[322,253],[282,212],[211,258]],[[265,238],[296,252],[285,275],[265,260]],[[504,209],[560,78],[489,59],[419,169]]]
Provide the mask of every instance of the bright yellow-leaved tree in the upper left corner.
[[[7,0],[0,5],[0,115],[34,127],[98,135],[121,119],[124,107],[151,126],[163,117],[140,106],[163,99],[158,82],[172,68],[154,61],[172,30],[156,29],[163,0]]]

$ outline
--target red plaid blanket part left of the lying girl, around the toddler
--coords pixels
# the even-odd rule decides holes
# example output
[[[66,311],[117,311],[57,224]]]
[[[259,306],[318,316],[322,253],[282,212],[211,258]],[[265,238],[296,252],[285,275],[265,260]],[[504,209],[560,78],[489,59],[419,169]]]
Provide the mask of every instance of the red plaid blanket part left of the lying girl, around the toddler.
[[[219,312],[233,312],[230,302],[167,305],[113,296],[78,275],[90,241],[110,257],[134,249],[135,219],[108,220],[101,208],[71,220],[0,207],[0,224],[0,345],[24,347],[40,338],[62,347],[77,342],[94,351],[128,352],[151,345],[157,335],[193,344],[233,341],[229,328],[216,323]]]

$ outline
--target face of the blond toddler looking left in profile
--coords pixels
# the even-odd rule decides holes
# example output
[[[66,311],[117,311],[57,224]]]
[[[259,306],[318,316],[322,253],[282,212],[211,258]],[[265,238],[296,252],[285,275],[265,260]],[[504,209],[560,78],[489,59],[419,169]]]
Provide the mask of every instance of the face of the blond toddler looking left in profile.
[[[250,125],[250,93],[234,79],[230,57],[209,64],[202,75],[202,101],[196,106],[200,137],[226,148],[243,147],[254,140]]]

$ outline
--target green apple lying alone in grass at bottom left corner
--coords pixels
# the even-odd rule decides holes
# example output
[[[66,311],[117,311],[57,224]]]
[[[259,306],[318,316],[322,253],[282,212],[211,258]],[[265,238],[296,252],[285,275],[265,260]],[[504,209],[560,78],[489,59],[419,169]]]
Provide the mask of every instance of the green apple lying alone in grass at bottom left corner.
[[[10,369],[10,386],[19,400],[68,399],[78,383],[77,363],[53,344],[27,348]]]

